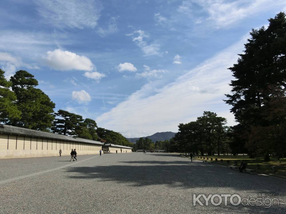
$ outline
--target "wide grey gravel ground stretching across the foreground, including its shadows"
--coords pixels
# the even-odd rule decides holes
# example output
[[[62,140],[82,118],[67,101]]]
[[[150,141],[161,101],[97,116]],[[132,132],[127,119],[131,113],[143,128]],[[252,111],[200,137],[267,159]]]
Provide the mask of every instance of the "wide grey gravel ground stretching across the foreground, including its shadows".
[[[286,213],[284,179],[172,154],[69,159],[0,160],[0,213]],[[192,205],[192,194],[259,193],[278,193],[279,206]]]

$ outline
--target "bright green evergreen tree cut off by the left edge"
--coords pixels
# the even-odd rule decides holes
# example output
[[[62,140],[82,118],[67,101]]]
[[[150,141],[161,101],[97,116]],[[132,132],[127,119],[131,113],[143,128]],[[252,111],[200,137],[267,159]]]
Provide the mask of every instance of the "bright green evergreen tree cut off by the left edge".
[[[11,86],[12,83],[5,79],[4,71],[0,69],[0,122],[21,119],[21,112],[15,105],[17,97],[9,90]]]

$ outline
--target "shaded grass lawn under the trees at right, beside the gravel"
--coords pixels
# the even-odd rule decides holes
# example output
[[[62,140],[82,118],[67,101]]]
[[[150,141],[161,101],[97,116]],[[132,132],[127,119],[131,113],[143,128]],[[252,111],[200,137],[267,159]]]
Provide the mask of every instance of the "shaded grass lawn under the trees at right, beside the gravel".
[[[280,160],[277,160],[275,157],[270,157],[271,161],[265,162],[263,158],[249,158],[247,155],[238,155],[238,156],[232,156],[232,155],[213,155],[213,156],[202,156],[205,157],[205,159],[197,157],[197,160],[206,160],[208,157],[210,161],[210,158],[213,158],[213,162],[217,163],[219,165],[234,165],[234,161],[237,161],[237,164],[240,165],[240,161],[244,160],[247,163],[248,169],[254,169],[256,172],[263,173],[263,174],[269,174],[277,177],[283,177],[286,178],[286,158],[280,158]],[[215,162],[215,158],[217,158],[217,162]],[[220,160],[223,159],[223,162]],[[227,160],[230,161],[230,163],[227,163]],[[260,164],[260,169],[256,169],[256,164]],[[273,173],[271,166],[280,166],[283,167],[282,169],[278,169],[277,172]]]

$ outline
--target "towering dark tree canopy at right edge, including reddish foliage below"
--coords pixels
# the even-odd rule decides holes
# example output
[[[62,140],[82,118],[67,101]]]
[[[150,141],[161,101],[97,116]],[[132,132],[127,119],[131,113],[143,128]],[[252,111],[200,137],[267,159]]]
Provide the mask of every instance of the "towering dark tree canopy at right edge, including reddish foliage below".
[[[230,84],[232,94],[225,100],[239,122],[233,129],[234,140],[244,144],[253,157],[286,151],[285,144],[278,143],[285,125],[281,109],[286,107],[285,13],[268,21],[269,27],[251,31],[244,53],[229,68],[235,79]],[[277,120],[278,116],[282,119]]]

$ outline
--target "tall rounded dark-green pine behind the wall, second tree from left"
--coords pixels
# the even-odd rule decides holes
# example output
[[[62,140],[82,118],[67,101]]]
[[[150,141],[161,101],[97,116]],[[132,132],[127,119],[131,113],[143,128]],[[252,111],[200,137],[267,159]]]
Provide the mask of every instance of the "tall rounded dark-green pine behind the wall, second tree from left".
[[[15,104],[21,111],[21,119],[11,119],[8,124],[42,131],[50,128],[54,120],[55,104],[42,90],[35,88],[38,81],[34,76],[25,70],[19,70],[10,81],[17,97]]]

